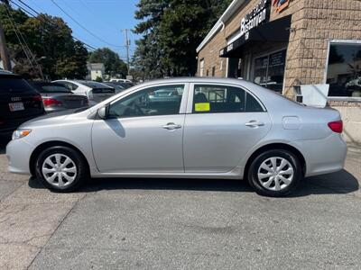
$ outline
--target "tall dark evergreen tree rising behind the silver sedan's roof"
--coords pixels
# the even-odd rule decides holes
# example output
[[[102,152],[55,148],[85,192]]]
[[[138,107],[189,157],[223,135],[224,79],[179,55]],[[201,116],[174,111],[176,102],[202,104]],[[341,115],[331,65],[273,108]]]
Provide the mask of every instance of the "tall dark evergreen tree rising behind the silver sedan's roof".
[[[231,0],[140,0],[134,67],[144,78],[193,76],[196,49]]]

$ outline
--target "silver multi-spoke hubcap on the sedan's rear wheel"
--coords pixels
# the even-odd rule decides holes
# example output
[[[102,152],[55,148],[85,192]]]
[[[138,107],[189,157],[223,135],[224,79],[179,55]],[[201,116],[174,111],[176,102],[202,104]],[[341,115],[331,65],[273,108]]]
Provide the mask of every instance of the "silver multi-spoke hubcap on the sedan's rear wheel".
[[[293,166],[283,157],[270,157],[258,168],[258,179],[264,188],[280,191],[292,183]]]

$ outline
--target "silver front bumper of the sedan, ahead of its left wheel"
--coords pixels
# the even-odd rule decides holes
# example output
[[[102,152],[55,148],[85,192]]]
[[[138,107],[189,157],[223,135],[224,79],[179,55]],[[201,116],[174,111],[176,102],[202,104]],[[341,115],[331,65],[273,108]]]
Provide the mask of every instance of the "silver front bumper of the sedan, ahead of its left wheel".
[[[25,139],[11,140],[6,146],[8,170],[14,174],[31,175],[29,161],[33,148]]]

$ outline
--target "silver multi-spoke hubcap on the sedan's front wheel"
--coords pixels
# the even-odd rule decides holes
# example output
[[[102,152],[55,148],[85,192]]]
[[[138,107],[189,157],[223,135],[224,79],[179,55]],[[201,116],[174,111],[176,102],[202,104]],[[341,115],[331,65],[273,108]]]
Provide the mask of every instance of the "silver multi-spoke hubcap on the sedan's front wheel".
[[[42,163],[42,175],[54,186],[63,187],[74,182],[77,177],[77,166],[64,154],[54,154]]]

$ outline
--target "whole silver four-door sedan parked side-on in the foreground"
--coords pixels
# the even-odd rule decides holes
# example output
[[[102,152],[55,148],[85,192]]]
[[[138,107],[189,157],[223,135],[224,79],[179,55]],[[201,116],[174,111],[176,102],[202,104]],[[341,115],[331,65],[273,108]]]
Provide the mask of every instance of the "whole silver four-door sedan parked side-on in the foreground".
[[[148,99],[175,90],[181,99]],[[341,132],[338,111],[250,82],[174,78],[83,112],[28,121],[6,155],[11,172],[36,175],[57,192],[74,191],[89,176],[142,176],[248,179],[257,193],[283,196],[304,176],[343,168]]]

